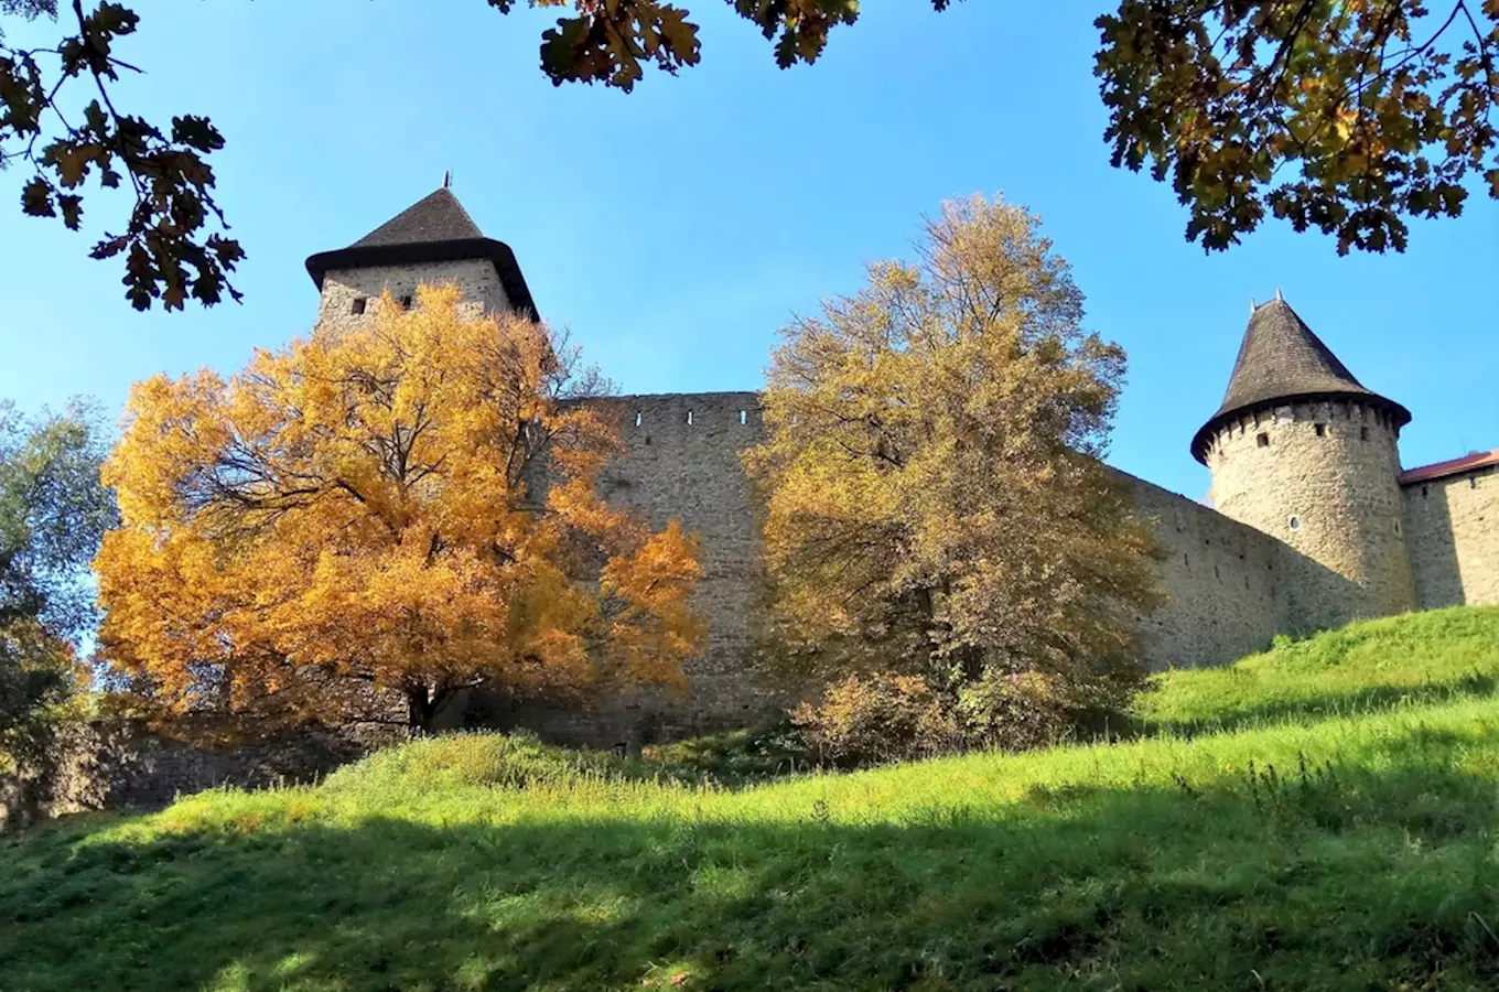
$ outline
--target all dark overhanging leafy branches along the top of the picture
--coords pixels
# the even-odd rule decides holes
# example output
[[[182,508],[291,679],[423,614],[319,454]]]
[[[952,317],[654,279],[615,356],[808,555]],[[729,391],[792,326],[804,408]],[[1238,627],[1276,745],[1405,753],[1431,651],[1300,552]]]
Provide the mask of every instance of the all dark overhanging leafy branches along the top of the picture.
[[[703,0],[706,1],[706,0]],[[952,0],[928,0],[944,10]],[[508,13],[520,0],[484,0]],[[773,45],[815,61],[857,0],[727,0]],[[699,27],[663,0],[525,0],[567,9],[541,36],[558,85],[633,90],[648,67],[702,57]],[[6,19],[54,18],[55,45],[19,48]],[[139,16],[115,0],[0,0],[0,168],[28,172],[27,214],[81,226],[82,190],[127,186],[133,205],[93,246],[124,258],[141,310],[240,298],[205,117],[150,123],[111,99]],[[1096,73],[1117,166],[1171,181],[1187,238],[1222,250],[1267,216],[1316,226],[1339,250],[1403,250],[1409,217],[1457,216],[1469,189],[1499,198],[1499,0],[1121,0],[1097,19]]]

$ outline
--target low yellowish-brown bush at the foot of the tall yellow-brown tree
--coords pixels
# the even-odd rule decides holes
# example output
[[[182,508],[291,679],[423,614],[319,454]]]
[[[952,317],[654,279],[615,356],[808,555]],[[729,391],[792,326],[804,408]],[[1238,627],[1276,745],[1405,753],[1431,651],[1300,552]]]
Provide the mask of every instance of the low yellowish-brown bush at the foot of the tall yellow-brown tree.
[[[848,676],[793,719],[823,760],[847,767],[979,748],[1045,748],[1063,737],[1072,712],[1055,677],[989,668],[955,689],[922,676]]]

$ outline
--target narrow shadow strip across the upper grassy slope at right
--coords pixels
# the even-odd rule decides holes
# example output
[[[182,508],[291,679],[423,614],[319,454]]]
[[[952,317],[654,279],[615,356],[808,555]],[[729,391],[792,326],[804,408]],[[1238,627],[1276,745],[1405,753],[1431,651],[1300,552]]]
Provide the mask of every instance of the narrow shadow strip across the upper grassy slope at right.
[[[1255,727],[1306,722],[1336,716],[1367,716],[1412,706],[1435,706],[1499,694],[1499,679],[1474,671],[1451,682],[1421,685],[1375,685],[1346,691],[1327,691],[1291,698],[1256,698],[1250,704],[1217,703],[1211,718],[1135,719],[1124,736],[1171,734],[1195,737],[1208,733],[1232,733]]]

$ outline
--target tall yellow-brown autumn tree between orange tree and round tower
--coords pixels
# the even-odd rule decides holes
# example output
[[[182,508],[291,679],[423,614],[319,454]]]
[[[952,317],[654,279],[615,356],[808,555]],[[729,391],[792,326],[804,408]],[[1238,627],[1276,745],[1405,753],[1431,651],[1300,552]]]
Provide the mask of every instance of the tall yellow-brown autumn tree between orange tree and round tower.
[[[1118,703],[1156,602],[1150,533],[1099,460],[1124,352],[1082,328],[1037,219],[946,204],[916,262],[782,336],[747,468],[796,665]]]

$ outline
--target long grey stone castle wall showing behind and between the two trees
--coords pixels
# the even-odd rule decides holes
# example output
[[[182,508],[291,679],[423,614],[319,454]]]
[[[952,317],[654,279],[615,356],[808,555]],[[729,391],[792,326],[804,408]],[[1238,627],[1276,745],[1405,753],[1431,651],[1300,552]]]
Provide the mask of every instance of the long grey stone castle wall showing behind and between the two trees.
[[[755,616],[764,608],[760,508],[739,462],[741,451],[763,438],[758,394],[597,403],[618,424],[624,445],[600,480],[604,496],[640,512],[652,527],[679,520],[702,538],[703,578],[693,608],[709,634],[703,652],[684,665],[691,692],[522,704],[471,694],[454,707],[454,725],[526,727],[567,743],[633,748],[775,712],[785,700],[752,664]],[[1159,486],[1124,478],[1135,512],[1154,523],[1163,550],[1157,575],[1168,601],[1141,617],[1153,670],[1228,664],[1265,649],[1286,629],[1288,559],[1280,541]]]

